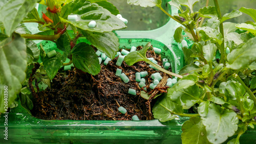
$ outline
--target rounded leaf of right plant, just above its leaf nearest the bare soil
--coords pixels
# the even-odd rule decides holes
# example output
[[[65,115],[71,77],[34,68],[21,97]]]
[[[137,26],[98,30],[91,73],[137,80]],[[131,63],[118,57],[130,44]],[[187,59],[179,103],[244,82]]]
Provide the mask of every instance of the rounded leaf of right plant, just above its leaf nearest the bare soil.
[[[176,87],[178,84],[176,84]],[[186,88],[179,87],[179,89],[176,89],[176,87],[168,90],[168,97],[170,97],[173,102],[186,107],[194,106],[196,103],[200,102],[199,97],[201,92],[197,85]]]

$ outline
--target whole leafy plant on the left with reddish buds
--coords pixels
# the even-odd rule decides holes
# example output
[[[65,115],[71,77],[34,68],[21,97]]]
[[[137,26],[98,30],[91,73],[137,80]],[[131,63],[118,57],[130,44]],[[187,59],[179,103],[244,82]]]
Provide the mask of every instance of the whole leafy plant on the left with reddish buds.
[[[35,4],[46,5],[42,17]],[[62,65],[74,64],[79,73],[97,75],[100,64],[95,51],[88,43],[77,43],[79,37],[86,37],[90,44],[113,59],[119,50],[119,42],[113,30],[126,28],[116,15],[119,11],[106,1],[69,0],[5,0],[0,2],[0,85],[8,86],[8,107],[19,98],[24,107],[33,108],[29,94],[38,91],[38,81],[48,84]],[[77,17],[76,19],[72,16]],[[70,18],[69,18],[70,16]],[[96,22],[92,27],[89,23]],[[36,34],[24,23],[38,23]],[[67,31],[70,27],[72,31]],[[60,53],[50,57],[44,47],[31,40],[48,40],[56,43]],[[40,63],[34,68],[40,56]],[[69,58],[69,63],[64,63]],[[35,86],[32,85],[35,80]],[[23,88],[22,88],[23,87]],[[0,113],[4,109],[4,91],[0,88]]]

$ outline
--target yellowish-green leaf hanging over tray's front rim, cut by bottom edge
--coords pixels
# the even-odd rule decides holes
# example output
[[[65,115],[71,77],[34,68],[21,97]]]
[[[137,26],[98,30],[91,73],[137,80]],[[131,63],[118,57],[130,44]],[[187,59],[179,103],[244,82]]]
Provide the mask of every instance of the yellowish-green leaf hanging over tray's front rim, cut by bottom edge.
[[[205,126],[200,117],[191,117],[182,127],[181,140],[183,144],[210,143],[206,137]]]

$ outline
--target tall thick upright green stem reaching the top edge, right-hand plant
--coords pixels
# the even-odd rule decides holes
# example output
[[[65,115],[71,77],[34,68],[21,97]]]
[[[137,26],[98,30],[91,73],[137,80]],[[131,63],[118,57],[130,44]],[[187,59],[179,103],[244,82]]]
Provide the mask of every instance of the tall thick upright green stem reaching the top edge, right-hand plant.
[[[219,4],[218,4],[218,0],[214,0],[214,4],[215,4],[215,8],[216,8],[216,11],[217,11],[217,15],[218,15],[218,18],[219,20],[221,20],[222,18],[222,15],[221,15],[221,10],[220,10],[220,7],[219,7]],[[220,50],[221,50],[221,60],[220,62],[223,63],[225,65],[225,60],[224,60],[224,56],[225,56],[225,45],[224,45],[224,29],[223,29],[223,22],[220,23],[220,33],[222,34],[222,37],[223,37],[223,40],[222,40],[222,43],[220,45]]]

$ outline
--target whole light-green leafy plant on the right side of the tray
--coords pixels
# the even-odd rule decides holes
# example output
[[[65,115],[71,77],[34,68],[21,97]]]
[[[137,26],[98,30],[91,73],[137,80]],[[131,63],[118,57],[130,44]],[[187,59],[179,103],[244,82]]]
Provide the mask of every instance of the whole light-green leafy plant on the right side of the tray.
[[[218,1],[214,0],[215,6],[208,6],[206,1],[206,6],[195,12],[197,2],[170,1],[168,4],[179,10],[178,14],[170,15],[161,7],[160,0],[127,0],[128,4],[141,7],[159,7],[181,24],[174,39],[183,43],[184,39],[193,41],[188,48],[185,44],[182,47],[187,65],[179,76],[163,71],[180,79],[168,88],[167,94],[158,96],[153,114],[161,122],[191,117],[182,126],[183,143],[222,143],[233,135],[237,138],[228,143],[239,143],[248,127],[254,129],[256,124],[256,10],[241,8],[222,15]],[[225,22],[242,12],[254,21]],[[125,57],[127,64],[134,63],[131,58],[148,62],[142,53],[136,53],[139,54],[133,52]],[[195,113],[185,113],[187,109]]]

